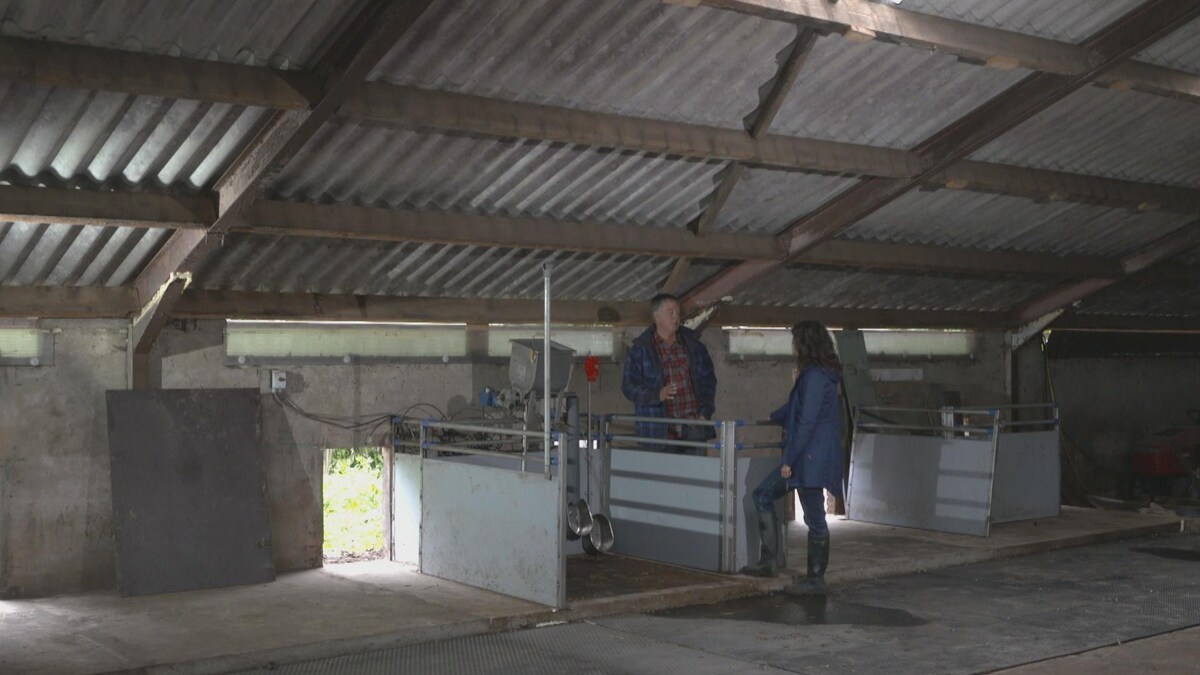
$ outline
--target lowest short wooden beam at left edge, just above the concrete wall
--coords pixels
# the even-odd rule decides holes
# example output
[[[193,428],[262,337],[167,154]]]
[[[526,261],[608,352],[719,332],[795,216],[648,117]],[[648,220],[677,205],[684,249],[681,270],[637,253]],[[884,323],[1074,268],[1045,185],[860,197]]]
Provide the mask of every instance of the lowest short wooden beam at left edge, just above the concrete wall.
[[[132,288],[0,286],[0,317],[127,318],[139,307]]]

